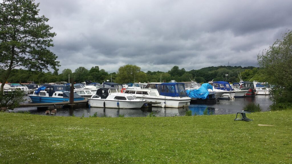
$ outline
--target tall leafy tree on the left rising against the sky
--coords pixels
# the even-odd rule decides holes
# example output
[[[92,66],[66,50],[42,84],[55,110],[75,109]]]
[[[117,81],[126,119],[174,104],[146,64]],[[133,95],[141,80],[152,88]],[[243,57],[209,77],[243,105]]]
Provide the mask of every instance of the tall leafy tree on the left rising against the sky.
[[[48,50],[56,34],[46,24],[48,18],[38,15],[39,3],[33,0],[3,0],[0,3],[0,69],[4,69],[1,91],[13,68],[58,70],[57,56]]]

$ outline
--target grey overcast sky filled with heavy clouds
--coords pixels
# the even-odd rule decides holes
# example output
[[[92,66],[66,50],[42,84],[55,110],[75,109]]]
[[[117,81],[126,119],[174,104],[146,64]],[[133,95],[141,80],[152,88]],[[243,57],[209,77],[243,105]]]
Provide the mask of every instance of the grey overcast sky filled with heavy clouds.
[[[292,29],[292,1],[36,0],[50,20],[63,69],[187,71],[257,66],[257,55]]]

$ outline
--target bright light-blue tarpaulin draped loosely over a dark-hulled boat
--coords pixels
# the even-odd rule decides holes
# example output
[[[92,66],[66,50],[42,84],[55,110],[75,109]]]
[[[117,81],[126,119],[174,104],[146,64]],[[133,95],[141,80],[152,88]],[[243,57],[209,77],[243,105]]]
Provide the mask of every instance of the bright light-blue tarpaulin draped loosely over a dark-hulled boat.
[[[201,88],[197,90],[194,89],[194,90],[186,90],[186,91],[187,91],[187,95],[191,98],[206,99],[208,98],[208,95],[209,95],[208,89],[213,90],[213,86],[211,86],[208,83],[204,83],[202,84]]]

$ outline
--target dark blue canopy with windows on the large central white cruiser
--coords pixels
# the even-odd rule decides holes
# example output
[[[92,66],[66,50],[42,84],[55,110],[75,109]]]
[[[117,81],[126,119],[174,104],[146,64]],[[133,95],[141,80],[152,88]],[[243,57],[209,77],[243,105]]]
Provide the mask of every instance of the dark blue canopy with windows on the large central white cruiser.
[[[184,83],[161,83],[157,85],[159,95],[171,97],[187,97]]]

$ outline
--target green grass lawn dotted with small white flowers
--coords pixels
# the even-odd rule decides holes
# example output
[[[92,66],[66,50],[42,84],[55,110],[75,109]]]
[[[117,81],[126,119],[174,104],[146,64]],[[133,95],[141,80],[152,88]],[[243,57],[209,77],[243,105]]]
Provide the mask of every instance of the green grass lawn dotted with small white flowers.
[[[0,163],[292,163],[292,110],[247,117],[254,121],[1,112]]]

